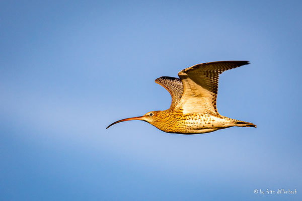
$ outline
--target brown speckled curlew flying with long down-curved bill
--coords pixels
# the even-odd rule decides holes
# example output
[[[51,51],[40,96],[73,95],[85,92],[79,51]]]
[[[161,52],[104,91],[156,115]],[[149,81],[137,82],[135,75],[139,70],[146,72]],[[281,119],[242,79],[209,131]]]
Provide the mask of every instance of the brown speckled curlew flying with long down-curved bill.
[[[257,127],[256,125],[220,115],[216,108],[218,78],[225,70],[249,64],[249,61],[216,61],[185,68],[179,78],[160,77],[156,83],[166,88],[172,103],[168,110],[152,111],[141,117],[122,119],[110,124],[142,120],[167,133],[199,134],[218,129]]]

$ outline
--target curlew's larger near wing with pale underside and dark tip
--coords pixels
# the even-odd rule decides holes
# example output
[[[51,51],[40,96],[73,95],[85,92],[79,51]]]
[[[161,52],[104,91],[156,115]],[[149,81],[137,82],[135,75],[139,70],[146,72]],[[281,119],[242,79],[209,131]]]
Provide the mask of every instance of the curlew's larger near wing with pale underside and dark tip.
[[[178,76],[184,92],[176,108],[184,114],[208,112],[219,115],[216,108],[219,74],[246,64],[249,61],[216,61],[183,69]]]

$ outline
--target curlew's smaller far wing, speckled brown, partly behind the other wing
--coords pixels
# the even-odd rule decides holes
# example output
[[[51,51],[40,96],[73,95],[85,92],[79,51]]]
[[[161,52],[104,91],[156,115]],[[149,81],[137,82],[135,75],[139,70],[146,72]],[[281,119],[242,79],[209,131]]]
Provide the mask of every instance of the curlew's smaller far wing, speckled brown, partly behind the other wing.
[[[176,77],[160,77],[155,80],[156,83],[162,85],[169,91],[172,97],[170,109],[174,109],[179,103],[183,94],[183,84],[179,78]]]

